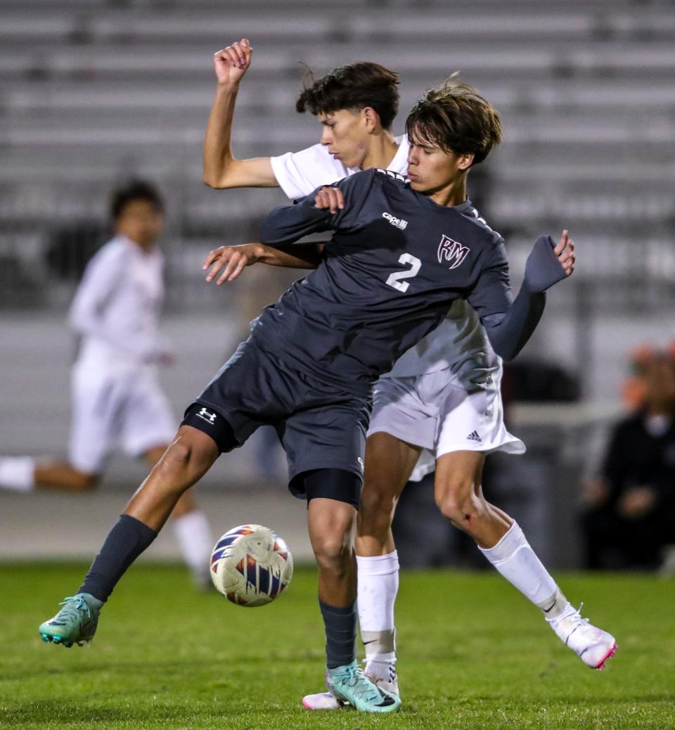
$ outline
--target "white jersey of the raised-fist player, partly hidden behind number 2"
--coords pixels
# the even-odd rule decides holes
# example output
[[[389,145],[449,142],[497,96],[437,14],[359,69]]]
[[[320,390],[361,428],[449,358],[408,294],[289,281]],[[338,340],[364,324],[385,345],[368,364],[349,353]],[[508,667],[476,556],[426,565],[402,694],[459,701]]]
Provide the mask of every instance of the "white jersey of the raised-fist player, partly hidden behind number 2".
[[[387,169],[405,175],[408,138],[396,137],[396,141],[398,150]],[[290,199],[309,195],[320,185],[360,172],[345,167],[318,144],[272,157],[271,166],[279,187]],[[453,380],[471,390],[490,383],[487,376],[500,367],[501,359],[495,355],[476,312],[466,301],[455,301],[441,324],[398,358],[393,369],[382,377],[411,377],[449,369]]]

